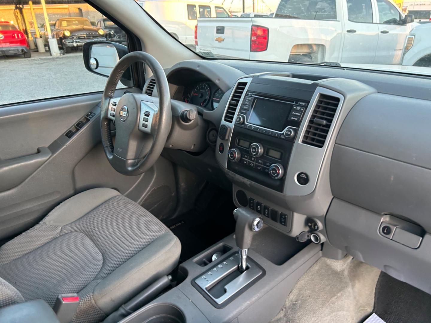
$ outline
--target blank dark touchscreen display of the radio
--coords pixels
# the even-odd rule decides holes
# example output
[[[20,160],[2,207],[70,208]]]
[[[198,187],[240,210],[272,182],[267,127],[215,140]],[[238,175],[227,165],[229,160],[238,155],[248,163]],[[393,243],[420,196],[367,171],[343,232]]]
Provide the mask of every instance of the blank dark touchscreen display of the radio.
[[[253,105],[248,123],[281,131],[286,126],[292,104],[269,99],[257,98]]]

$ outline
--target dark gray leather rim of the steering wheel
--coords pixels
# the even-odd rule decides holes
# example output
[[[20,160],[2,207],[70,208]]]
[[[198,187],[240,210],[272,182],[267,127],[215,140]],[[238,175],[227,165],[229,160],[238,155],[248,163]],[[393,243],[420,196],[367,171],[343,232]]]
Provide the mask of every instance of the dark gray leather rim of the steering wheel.
[[[108,113],[110,99],[114,97],[117,84],[122,74],[134,62],[143,62],[153,72],[153,77],[156,81],[157,93],[159,95],[157,103],[158,111],[153,118],[154,131],[151,134],[153,137],[153,143],[150,149],[143,157],[127,159],[122,158],[116,153],[116,149],[112,142],[111,120],[108,118]],[[147,96],[146,94],[141,93],[127,93],[123,95],[122,98],[129,94],[131,96],[134,96],[134,99],[137,102],[144,102],[143,100],[140,101],[141,98],[149,98],[149,96]],[[137,107],[137,109],[140,108]],[[108,158],[108,161],[112,165],[112,167],[115,168],[116,171],[119,171],[121,174],[130,176],[142,174],[149,168],[151,168],[156,162],[157,158],[159,158],[160,154],[162,153],[172,126],[172,111],[169,84],[166,78],[165,71],[163,70],[160,63],[150,54],[141,51],[131,52],[123,56],[122,59],[120,59],[119,62],[117,62],[116,66],[112,69],[111,74],[106,81],[100,110],[100,130],[103,149],[105,151],[106,158]],[[120,107],[118,107],[117,110],[120,110]],[[119,111],[116,111],[116,126],[118,113]],[[140,120],[137,120],[137,122],[139,123]],[[116,128],[116,136],[121,135],[118,133],[118,127]]]

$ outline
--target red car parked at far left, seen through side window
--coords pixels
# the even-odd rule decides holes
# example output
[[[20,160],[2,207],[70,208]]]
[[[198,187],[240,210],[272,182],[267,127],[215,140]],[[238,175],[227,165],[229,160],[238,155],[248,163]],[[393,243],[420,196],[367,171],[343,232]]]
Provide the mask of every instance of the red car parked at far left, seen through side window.
[[[0,21],[0,55],[22,54],[31,57],[27,37],[15,25]]]

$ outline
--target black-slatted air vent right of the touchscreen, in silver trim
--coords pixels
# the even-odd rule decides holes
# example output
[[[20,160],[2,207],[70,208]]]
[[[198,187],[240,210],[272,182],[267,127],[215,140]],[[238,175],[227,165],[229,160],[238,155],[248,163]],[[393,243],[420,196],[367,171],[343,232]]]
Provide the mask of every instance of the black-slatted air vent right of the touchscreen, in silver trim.
[[[334,121],[340,99],[336,96],[320,94],[314,107],[310,120],[308,121],[302,143],[317,148],[325,145],[329,128]]]

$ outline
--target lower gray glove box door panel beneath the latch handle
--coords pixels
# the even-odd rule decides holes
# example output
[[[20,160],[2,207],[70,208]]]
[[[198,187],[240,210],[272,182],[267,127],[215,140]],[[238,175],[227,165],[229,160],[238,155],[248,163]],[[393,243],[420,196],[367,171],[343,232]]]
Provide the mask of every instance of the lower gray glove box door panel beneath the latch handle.
[[[419,248],[412,249],[378,233],[381,214],[334,199],[326,216],[331,245],[360,261],[431,293],[431,235],[425,234]]]

